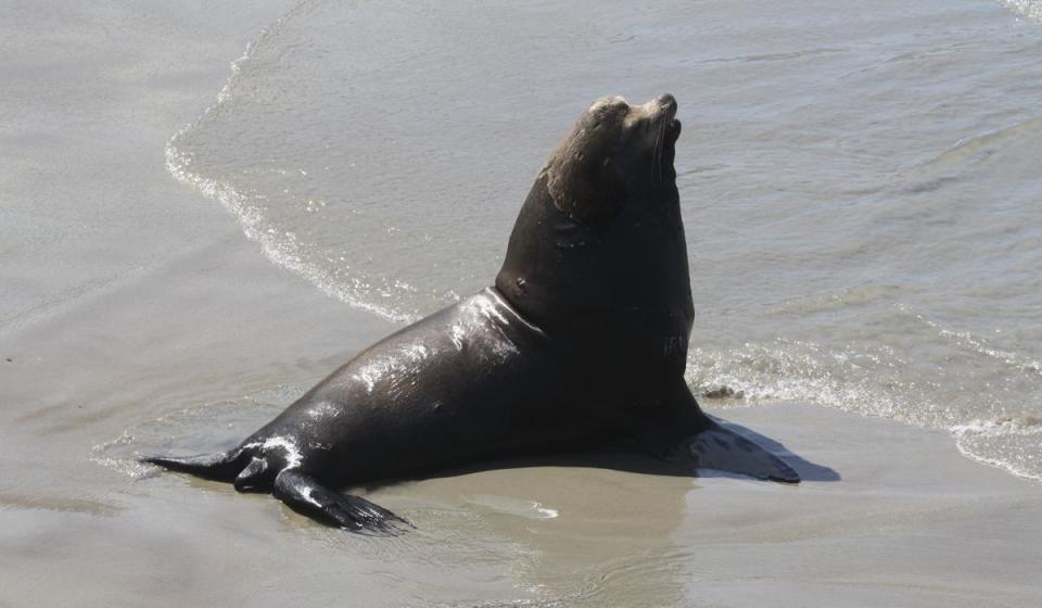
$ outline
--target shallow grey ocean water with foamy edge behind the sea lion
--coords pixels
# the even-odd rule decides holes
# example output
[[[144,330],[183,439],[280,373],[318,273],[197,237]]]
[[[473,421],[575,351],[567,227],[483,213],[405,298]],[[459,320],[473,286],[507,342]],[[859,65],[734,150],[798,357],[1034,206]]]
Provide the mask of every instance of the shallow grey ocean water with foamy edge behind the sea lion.
[[[167,166],[275,264],[404,324],[492,282],[586,105],[672,92],[687,375],[724,395],[707,404],[940,428],[1042,480],[1039,18],[1031,0],[305,0]]]

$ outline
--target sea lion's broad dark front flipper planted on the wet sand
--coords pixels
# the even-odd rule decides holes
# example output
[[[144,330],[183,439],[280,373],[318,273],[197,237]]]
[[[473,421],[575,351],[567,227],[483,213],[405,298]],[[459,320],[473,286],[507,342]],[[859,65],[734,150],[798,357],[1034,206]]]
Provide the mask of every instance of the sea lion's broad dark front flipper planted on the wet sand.
[[[800,482],[800,476],[780,458],[707,416],[682,380],[664,403],[641,409],[631,428],[637,443],[668,460],[770,481]]]

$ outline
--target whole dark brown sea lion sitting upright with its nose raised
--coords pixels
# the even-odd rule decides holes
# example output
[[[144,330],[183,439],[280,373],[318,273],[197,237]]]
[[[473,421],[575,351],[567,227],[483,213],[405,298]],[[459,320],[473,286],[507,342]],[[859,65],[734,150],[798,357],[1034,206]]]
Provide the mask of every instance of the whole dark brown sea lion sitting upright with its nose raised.
[[[684,381],[675,114],[670,94],[597,101],[536,177],[494,287],[363,351],[227,453],[143,461],[378,533],[405,520],[332,489],[620,435],[692,468],[798,482]]]

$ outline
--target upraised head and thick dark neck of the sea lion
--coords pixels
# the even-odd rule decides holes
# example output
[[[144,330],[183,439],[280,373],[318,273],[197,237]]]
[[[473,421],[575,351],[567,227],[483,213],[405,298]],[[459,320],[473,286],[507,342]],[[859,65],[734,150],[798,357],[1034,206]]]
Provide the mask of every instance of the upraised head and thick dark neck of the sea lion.
[[[514,224],[496,288],[544,328],[673,340],[694,312],[681,221],[676,100],[607,97],[555,148]],[[618,335],[615,335],[618,338]],[[656,346],[658,347],[658,346]]]

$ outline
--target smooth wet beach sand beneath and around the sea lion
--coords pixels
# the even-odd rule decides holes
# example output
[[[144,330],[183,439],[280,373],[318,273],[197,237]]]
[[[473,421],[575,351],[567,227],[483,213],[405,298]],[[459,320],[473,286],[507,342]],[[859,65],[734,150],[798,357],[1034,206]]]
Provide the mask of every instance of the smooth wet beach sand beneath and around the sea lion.
[[[979,607],[1042,594],[1042,485],[963,458],[945,433],[813,406],[716,410],[791,451],[799,486],[659,474],[619,452],[505,463],[373,489],[417,524],[392,540],[136,469],[128,455],[156,447],[141,429],[224,402],[263,423],[268,409],[237,400],[283,387],[274,401],[288,403],[395,326],[269,264],[164,168],[167,138],[287,3],[61,18],[38,7],[3,26],[38,31],[4,31],[37,46],[3,68],[24,96],[2,107],[18,118],[4,119],[0,169],[0,605]],[[119,52],[69,39],[94,26],[122,33]]]

